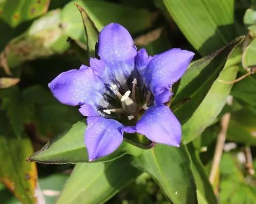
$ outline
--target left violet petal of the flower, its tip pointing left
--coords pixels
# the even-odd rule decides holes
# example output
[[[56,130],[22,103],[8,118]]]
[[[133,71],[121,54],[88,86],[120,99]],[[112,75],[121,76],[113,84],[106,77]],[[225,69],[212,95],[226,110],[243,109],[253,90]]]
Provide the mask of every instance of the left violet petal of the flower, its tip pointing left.
[[[79,70],[59,74],[49,83],[53,95],[62,103],[71,106],[89,104],[96,111],[103,100],[105,85],[94,75],[90,67],[82,65]],[[83,111],[84,112],[84,111]]]

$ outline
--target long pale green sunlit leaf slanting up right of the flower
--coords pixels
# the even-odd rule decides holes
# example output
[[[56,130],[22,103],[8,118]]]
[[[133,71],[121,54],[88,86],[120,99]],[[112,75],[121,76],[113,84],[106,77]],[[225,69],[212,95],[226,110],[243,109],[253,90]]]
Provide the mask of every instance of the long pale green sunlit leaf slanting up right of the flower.
[[[226,84],[224,82],[236,79],[239,64],[241,64],[241,47],[237,47],[233,50],[224,69],[211,85],[208,93],[196,111],[189,120],[182,125],[182,141],[184,143],[189,143],[200,135],[220,114],[232,88],[232,84]]]

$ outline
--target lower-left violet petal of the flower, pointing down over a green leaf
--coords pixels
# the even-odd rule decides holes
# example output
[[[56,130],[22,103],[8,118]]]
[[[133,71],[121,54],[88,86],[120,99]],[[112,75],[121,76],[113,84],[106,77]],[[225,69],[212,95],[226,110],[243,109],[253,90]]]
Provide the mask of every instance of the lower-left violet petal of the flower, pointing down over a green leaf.
[[[89,117],[84,137],[89,161],[111,154],[123,141],[123,125],[102,117]]]

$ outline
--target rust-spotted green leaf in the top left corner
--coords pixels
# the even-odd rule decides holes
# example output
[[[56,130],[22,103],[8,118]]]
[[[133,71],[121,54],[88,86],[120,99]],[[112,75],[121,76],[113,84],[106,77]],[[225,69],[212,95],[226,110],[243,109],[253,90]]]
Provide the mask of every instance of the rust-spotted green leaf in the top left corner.
[[[0,17],[11,27],[36,18],[47,12],[50,0],[3,0],[0,2]]]

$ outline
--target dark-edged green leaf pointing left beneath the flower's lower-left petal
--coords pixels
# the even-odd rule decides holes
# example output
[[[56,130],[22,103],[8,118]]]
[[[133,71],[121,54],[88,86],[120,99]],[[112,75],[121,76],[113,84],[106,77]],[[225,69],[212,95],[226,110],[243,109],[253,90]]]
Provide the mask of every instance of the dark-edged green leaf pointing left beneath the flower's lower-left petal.
[[[65,164],[88,162],[86,146],[84,146],[84,131],[86,123],[79,121],[70,130],[62,133],[48,142],[41,150],[29,157],[30,161],[46,164]],[[100,158],[99,161],[111,161],[125,154],[139,155],[143,150],[123,141],[122,145],[111,155]]]

